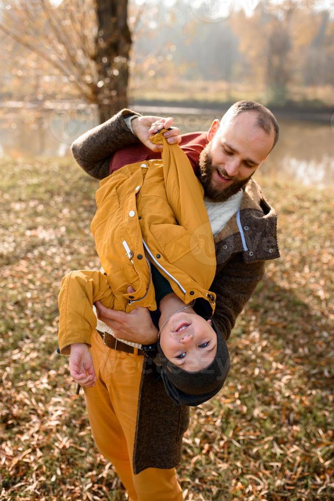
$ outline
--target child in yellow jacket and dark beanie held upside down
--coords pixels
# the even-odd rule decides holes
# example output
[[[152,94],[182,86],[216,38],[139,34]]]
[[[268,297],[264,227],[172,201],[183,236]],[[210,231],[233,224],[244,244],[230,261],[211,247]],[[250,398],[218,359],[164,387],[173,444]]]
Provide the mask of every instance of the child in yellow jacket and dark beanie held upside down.
[[[90,345],[97,327],[94,302],[153,312],[163,301],[169,315],[158,321],[155,362],[170,397],[197,405],[222,387],[229,356],[209,318],[216,303],[208,290],[216,254],[203,188],[185,153],[169,145],[163,132],[151,138],[163,144],[162,160],[126,165],[100,183],[91,231],[103,270],[71,271],[63,278],[59,347],[68,354],[71,344]],[[100,335],[105,340],[112,334]]]

